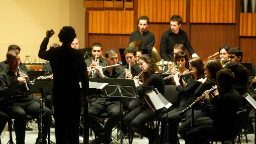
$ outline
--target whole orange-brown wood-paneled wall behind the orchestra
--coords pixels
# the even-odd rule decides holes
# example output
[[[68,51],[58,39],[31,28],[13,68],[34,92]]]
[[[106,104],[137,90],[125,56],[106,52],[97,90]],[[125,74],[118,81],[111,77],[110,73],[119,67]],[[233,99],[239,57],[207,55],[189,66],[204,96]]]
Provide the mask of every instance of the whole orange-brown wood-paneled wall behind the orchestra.
[[[135,20],[146,15],[160,52],[161,36],[170,28],[169,19],[175,14],[183,17],[181,29],[187,32],[202,59],[228,45],[243,50],[242,62],[256,64],[256,14],[240,13],[239,0],[134,0],[133,3],[133,10],[87,11],[86,46],[100,42],[104,52],[108,48],[125,48],[130,33],[137,30]]]

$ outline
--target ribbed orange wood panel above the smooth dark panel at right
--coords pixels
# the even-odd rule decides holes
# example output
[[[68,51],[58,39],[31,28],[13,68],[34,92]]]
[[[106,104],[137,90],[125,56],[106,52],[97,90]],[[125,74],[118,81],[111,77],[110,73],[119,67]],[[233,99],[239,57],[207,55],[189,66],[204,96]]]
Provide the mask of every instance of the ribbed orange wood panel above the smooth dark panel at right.
[[[235,23],[235,0],[190,0],[191,23]]]

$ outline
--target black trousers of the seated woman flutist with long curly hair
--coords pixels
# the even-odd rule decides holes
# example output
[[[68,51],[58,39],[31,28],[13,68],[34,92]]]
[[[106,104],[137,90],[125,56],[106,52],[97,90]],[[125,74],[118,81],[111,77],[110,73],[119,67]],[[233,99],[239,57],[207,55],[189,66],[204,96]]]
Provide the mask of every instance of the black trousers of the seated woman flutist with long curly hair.
[[[126,126],[130,125],[134,132],[146,136],[149,139],[149,143],[153,143],[154,138],[156,137],[156,130],[146,126],[145,124],[152,121],[156,116],[157,113],[148,105],[141,105],[129,112],[123,118],[123,122]]]

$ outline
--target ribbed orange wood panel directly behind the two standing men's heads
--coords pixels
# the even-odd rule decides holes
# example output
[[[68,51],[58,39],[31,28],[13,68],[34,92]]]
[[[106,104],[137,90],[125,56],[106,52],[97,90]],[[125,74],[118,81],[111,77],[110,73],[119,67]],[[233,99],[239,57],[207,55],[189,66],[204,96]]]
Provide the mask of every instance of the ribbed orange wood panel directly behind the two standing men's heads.
[[[153,23],[169,23],[172,15],[186,22],[186,0],[138,0],[138,18],[148,16]]]

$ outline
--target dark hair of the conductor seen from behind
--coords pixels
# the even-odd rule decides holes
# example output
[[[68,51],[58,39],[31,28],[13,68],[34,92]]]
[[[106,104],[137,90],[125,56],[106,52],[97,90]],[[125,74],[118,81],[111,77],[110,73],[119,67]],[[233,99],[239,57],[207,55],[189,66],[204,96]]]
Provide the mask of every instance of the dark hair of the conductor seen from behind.
[[[71,26],[64,26],[58,35],[60,42],[64,44],[71,44],[76,38],[75,29]]]

